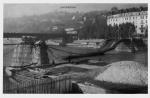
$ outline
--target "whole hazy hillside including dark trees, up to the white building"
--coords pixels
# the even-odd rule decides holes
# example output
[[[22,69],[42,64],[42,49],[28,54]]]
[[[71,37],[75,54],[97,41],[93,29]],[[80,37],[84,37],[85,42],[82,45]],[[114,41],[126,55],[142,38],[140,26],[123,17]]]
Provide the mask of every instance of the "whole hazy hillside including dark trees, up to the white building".
[[[79,38],[104,38],[106,35],[107,11],[87,13],[51,12],[43,15],[4,19],[4,32],[53,33],[64,28],[77,30]]]

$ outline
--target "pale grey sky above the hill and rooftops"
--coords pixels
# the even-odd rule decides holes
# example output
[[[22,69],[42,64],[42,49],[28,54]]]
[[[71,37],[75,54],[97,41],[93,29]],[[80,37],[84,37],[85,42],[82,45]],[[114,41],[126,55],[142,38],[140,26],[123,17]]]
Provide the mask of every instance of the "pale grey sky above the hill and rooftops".
[[[148,6],[143,3],[89,3],[89,4],[4,4],[4,18],[40,15],[54,11],[89,12],[93,10],[110,10],[112,7],[131,8]]]

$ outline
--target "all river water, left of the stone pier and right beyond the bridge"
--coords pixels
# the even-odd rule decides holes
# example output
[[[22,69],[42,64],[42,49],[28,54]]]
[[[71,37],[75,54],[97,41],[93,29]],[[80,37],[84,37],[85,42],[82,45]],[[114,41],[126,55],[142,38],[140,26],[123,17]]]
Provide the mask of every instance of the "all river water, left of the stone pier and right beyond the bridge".
[[[4,56],[3,56],[4,57],[3,58],[4,62],[3,63],[4,63],[4,66],[11,64],[11,57],[12,57],[12,53],[13,53],[13,51],[11,51],[11,50],[13,48],[14,47],[12,47],[12,46],[4,46],[4,48],[3,48],[3,52],[4,52]],[[69,49],[67,49],[67,48],[65,48],[65,50],[69,51]],[[70,49],[71,52],[75,51],[75,50],[76,50],[76,52],[78,52],[77,49],[74,49],[74,50]],[[84,52],[85,50],[82,50],[82,51]],[[96,57],[96,59],[104,61],[107,64],[117,62],[117,61],[136,61],[136,62],[144,64],[145,66],[148,66],[148,52],[147,52],[147,50],[136,52],[136,53],[130,53],[130,52],[106,53],[105,55]]]

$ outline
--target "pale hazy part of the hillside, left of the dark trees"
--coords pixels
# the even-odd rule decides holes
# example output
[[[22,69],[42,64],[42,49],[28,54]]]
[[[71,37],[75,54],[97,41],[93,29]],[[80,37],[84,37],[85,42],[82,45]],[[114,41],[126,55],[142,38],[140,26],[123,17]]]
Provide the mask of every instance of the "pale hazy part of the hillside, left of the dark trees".
[[[53,26],[62,28],[79,28],[81,13],[51,12],[43,15],[5,18],[4,32],[16,33],[50,33]]]

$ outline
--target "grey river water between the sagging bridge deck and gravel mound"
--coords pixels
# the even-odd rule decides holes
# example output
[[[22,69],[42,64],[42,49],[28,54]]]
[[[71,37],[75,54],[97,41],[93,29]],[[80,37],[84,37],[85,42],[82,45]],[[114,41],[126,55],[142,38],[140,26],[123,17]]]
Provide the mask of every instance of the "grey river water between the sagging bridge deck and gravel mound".
[[[119,53],[107,53],[101,56],[100,59],[106,63],[112,63],[117,61],[136,61],[145,66],[148,66],[148,52],[140,51],[136,53],[119,52]]]

